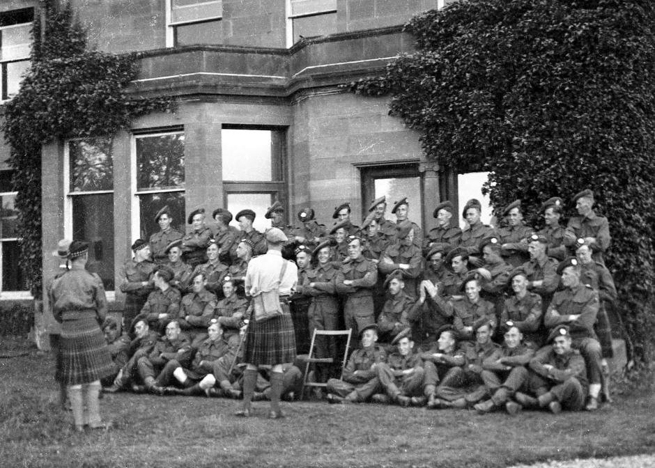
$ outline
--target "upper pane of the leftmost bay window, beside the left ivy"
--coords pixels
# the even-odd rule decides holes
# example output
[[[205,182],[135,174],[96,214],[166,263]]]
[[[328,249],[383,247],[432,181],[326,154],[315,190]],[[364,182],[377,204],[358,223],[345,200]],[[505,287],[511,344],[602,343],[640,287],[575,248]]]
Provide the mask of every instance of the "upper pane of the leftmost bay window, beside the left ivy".
[[[70,191],[91,192],[114,188],[114,160],[111,138],[71,140]]]

